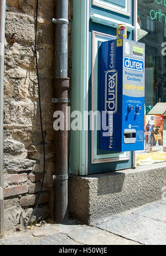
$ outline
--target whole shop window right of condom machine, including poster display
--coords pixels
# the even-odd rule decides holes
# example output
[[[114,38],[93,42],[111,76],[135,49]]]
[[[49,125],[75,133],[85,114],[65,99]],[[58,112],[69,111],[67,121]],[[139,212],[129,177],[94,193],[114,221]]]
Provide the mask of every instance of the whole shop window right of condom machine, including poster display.
[[[137,156],[137,164],[143,165],[166,161],[166,119],[159,116],[164,109],[157,108],[166,103],[166,3],[139,0],[138,15],[141,29],[148,32],[139,40],[146,45],[145,140],[144,151]]]

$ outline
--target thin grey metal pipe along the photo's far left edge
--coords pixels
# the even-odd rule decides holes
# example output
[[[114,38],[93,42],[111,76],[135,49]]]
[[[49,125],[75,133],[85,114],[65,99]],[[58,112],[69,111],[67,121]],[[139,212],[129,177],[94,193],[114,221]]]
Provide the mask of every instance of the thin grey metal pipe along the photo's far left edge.
[[[4,77],[4,29],[6,0],[0,0],[0,238],[4,233],[3,197],[3,77]]]

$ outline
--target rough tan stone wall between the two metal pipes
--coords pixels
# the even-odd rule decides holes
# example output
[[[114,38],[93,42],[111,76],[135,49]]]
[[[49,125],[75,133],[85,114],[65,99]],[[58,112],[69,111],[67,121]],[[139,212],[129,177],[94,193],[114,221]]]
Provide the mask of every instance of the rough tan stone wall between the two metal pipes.
[[[54,2],[39,1],[40,94],[46,150],[44,192],[35,219],[53,217],[55,172]],[[43,172],[38,84],[34,55],[35,0],[7,0],[4,72],[4,209],[6,230],[28,221],[39,198]],[[12,42],[14,34],[15,42]]]

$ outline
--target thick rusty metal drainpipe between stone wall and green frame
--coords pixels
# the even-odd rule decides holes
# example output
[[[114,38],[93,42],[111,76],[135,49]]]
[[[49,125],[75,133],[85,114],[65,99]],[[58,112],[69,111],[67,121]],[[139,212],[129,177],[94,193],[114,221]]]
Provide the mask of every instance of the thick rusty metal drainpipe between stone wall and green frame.
[[[55,0],[55,110],[63,111],[66,120],[68,106],[68,0]],[[66,124],[65,124],[66,125]],[[66,126],[65,126],[66,127]],[[55,221],[68,221],[68,131],[55,132]]]

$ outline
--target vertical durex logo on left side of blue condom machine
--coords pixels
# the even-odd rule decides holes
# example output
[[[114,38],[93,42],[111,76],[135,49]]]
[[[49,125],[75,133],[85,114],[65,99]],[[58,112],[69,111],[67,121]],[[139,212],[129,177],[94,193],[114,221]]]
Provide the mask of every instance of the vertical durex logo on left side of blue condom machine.
[[[105,111],[117,112],[117,70],[108,70],[105,75]]]

